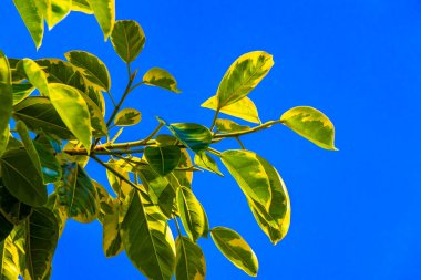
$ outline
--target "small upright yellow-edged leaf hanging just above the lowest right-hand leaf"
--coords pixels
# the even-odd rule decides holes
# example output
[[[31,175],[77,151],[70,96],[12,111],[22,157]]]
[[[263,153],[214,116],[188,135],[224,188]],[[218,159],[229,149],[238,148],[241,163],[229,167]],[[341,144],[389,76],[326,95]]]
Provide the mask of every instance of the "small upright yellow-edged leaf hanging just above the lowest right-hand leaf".
[[[177,206],[184,229],[188,237],[196,242],[205,231],[206,216],[203,206],[187,187],[177,189]]]

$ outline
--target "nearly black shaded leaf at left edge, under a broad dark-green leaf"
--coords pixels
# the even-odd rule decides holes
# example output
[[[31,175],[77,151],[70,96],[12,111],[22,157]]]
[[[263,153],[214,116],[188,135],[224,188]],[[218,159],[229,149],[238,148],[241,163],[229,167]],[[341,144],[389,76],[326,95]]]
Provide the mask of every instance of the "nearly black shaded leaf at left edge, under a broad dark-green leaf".
[[[32,207],[19,201],[3,186],[0,179],[0,212],[9,222],[19,225],[32,212]],[[6,226],[0,228],[7,229]],[[1,236],[1,235],[0,235]],[[0,278],[1,279],[1,278]]]

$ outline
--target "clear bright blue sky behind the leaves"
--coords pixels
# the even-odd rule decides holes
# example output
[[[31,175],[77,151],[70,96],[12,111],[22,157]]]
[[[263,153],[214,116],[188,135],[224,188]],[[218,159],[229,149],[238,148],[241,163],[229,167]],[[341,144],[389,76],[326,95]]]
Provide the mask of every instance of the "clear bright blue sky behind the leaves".
[[[122,139],[147,135],[155,115],[209,125],[213,112],[201,103],[215,94],[230,63],[254,50],[275,59],[250,94],[263,121],[311,105],[335,123],[337,153],[281,126],[244,137],[247,148],[277,167],[290,193],[291,227],[276,247],[233,178],[195,175],[194,191],[210,226],[234,228],[249,242],[260,263],[258,279],[421,279],[420,1],[119,0],[116,17],[137,20],[146,33],[134,66],[141,73],[167,69],[183,90],[132,93],[125,105],[142,111],[143,121]],[[109,65],[112,93],[122,93],[125,65],[93,17],[72,13],[45,34],[38,52],[11,0],[1,1],[0,20],[0,49],[8,56],[63,58],[86,50]],[[106,185],[102,168],[92,163],[88,170]],[[101,238],[99,222],[69,222],[52,279],[143,279],[124,253],[106,259]],[[212,240],[201,246],[207,279],[249,279]]]

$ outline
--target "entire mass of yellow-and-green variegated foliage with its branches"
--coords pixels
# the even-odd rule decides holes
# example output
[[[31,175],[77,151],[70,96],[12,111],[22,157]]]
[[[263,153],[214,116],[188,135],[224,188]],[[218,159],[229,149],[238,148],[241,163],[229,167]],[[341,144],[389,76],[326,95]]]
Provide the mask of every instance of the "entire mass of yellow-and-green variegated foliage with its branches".
[[[131,62],[145,45],[141,25],[133,20],[114,21],[112,0],[13,2],[37,48],[42,42],[44,20],[52,28],[71,11],[93,13],[105,39],[111,37],[116,54],[126,63],[129,82],[120,101],[114,102],[107,68],[94,54],[70,51],[65,60],[32,61],[0,53],[0,278],[49,279],[66,219],[99,220],[104,229],[105,256],[125,250],[150,279],[204,279],[205,257],[197,240],[209,235],[228,260],[257,276],[257,257],[240,235],[226,227],[209,228],[192,187],[193,173],[209,170],[223,176],[219,159],[238,183],[258,226],[277,243],[289,228],[287,188],[275,167],[245,149],[239,138],[284,124],[321,148],[336,149],[329,118],[312,107],[299,106],[279,120],[261,123],[248,95],[269,73],[274,60],[255,51],[229,66],[216,95],[202,105],[215,111],[210,127],[158,117],[146,138],[117,143],[124,127],[141,122],[141,112],[123,108],[131,92],[141,85],[181,92],[174,76],[160,68],[137,81]],[[104,93],[113,102],[107,121]],[[219,113],[257,125],[219,118]],[[116,133],[112,129],[115,126],[121,127]],[[171,135],[160,134],[163,127]],[[242,148],[213,148],[226,138],[236,138]],[[106,170],[113,193],[84,170],[92,160]],[[54,190],[49,193],[51,184]],[[171,221],[177,228],[176,240]]]

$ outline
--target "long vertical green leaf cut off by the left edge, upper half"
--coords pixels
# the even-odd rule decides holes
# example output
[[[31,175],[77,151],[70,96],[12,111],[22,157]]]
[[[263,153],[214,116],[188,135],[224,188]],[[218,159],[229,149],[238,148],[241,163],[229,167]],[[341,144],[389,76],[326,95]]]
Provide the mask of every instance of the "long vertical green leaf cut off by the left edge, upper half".
[[[0,156],[9,139],[9,120],[12,113],[12,86],[9,61],[0,51]]]

